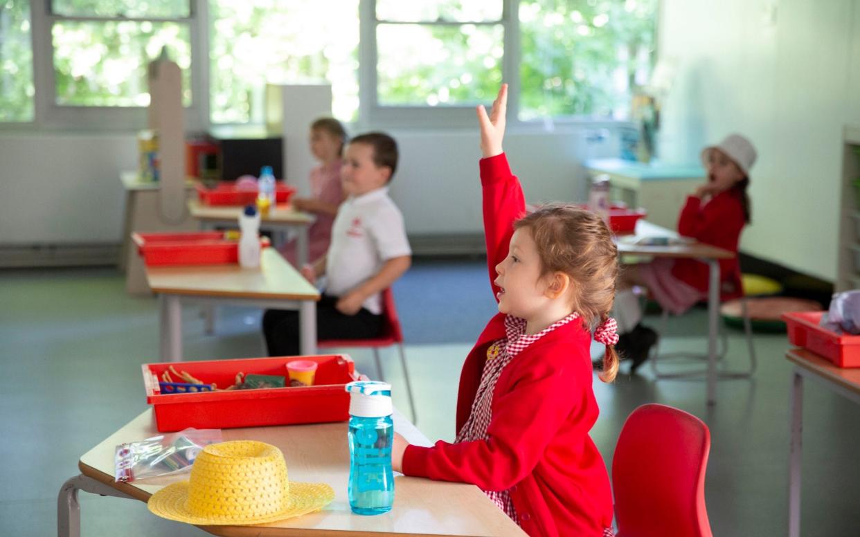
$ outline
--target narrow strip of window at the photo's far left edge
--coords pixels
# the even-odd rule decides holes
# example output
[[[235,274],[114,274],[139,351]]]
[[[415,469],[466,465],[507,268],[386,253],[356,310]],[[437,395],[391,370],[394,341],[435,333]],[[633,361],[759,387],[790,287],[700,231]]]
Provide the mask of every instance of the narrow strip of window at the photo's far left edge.
[[[34,118],[30,4],[0,0],[0,122]]]

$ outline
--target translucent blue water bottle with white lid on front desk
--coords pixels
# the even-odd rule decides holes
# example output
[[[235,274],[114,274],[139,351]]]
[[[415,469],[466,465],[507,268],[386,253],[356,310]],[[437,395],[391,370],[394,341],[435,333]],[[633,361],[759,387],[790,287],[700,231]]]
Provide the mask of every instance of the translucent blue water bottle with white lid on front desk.
[[[391,446],[391,385],[359,381],[347,384],[349,400],[349,506],[357,515],[378,515],[394,503]]]

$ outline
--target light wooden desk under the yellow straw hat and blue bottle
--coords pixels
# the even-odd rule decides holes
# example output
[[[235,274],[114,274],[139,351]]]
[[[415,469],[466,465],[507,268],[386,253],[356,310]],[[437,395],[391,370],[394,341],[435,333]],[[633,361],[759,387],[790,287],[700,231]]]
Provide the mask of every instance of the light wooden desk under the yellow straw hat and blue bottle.
[[[400,412],[394,427],[409,442],[431,445]],[[78,462],[81,475],[65,482],[58,497],[58,534],[80,535],[77,491],[107,494],[145,502],[163,485],[114,483],[114,449],[122,442],[158,433],[147,410],[90,449]],[[347,500],[349,449],[347,423],[225,429],[224,440],[259,440],[284,452],[290,479],[328,483],[335,500],[321,511],[263,526],[201,526],[210,534],[250,535],[518,535],[525,533],[475,485],[398,475],[394,507],[377,516],[353,515]],[[154,516],[154,515],[153,515]]]

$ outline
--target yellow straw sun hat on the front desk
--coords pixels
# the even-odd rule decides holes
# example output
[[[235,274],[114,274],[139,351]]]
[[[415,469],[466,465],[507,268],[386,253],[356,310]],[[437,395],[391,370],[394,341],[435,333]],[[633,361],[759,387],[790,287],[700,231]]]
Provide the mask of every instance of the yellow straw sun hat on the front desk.
[[[157,491],[147,506],[189,524],[245,525],[311,513],[333,499],[335,491],[324,483],[291,483],[280,449],[243,440],[206,446],[191,479]]]

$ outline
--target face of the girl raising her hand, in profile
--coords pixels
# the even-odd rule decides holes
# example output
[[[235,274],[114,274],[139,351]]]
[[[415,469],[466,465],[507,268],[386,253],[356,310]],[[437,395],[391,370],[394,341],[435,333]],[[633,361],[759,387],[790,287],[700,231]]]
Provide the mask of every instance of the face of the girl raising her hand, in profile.
[[[549,299],[537,244],[528,228],[513,232],[507,258],[495,265],[495,272],[499,276],[494,284],[501,289],[497,295],[499,311],[525,320],[535,318]]]

